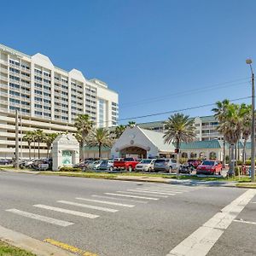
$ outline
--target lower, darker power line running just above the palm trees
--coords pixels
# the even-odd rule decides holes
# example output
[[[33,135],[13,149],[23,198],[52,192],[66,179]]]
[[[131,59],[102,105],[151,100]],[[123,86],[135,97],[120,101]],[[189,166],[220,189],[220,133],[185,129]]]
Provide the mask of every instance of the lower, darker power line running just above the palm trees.
[[[241,97],[241,98],[236,98],[236,99],[232,99],[230,100],[230,102],[237,102],[237,101],[241,101],[241,100],[246,100],[251,98],[252,96],[246,96],[246,97]],[[190,108],[181,108],[181,109],[176,109],[176,110],[170,110],[170,111],[165,111],[165,112],[159,112],[159,113],[150,113],[150,114],[145,114],[145,115],[141,115],[141,116],[137,116],[137,117],[130,117],[130,118],[125,118],[125,119],[118,119],[117,121],[126,121],[126,120],[133,120],[133,119],[143,119],[143,118],[147,118],[147,117],[152,117],[152,116],[157,116],[157,115],[162,115],[162,114],[167,114],[167,113],[177,113],[177,112],[183,112],[186,110],[192,110],[195,108],[206,108],[206,107],[212,107],[215,106],[215,103],[209,103],[209,104],[204,104],[204,105],[199,105],[199,106],[195,106],[195,107],[190,107]],[[111,122],[110,120],[105,121],[105,122]],[[97,122],[99,123],[99,122]]]

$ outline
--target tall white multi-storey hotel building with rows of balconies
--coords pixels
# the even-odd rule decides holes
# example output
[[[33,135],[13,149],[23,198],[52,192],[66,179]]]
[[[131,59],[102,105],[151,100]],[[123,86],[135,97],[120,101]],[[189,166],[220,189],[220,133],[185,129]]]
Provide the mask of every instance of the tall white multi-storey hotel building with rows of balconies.
[[[26,131],[73,133],[80,113],[89,114],[97,127],[117,125],[119,96],[77,69],[55,67],[45,55],[30,56],[0,44],[0,158],[15,157],[15,110],[21,117],[20,151],[28,158],[28,145],[21,139]],[[46,155],[44,143],[40,152]]]

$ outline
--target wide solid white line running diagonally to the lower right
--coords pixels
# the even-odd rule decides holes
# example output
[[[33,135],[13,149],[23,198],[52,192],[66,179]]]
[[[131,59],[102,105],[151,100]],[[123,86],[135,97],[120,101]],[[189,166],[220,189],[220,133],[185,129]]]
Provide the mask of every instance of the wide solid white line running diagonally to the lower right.
[[[167,256],[207,255],[216,241],[218,241],[218,238],[224,233],[224,230],[230,226],[254,195],[256,195],[256,190],[248,189],[180,242]]]

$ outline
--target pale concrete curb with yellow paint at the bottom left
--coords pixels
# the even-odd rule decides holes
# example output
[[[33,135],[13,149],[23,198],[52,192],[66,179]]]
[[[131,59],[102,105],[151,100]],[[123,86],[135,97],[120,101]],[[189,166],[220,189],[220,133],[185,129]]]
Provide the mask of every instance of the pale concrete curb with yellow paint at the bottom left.
[[[45,243],[44,241],[39,241],[14,230],[6,229],[3,226],[0,226],[0,240],[7,242],[14,247],[20,247],[38,256],[74,255],[73,253],[67,253],[58,247]]]

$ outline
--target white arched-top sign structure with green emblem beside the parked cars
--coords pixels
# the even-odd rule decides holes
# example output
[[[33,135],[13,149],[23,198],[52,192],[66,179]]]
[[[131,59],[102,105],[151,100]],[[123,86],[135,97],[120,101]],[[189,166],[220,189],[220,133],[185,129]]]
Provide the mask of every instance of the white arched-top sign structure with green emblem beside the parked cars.
[[[79,164],[79,142],[71,134],[61,134],[52,143],[52,170]]]

